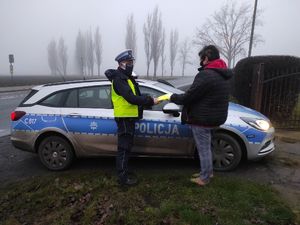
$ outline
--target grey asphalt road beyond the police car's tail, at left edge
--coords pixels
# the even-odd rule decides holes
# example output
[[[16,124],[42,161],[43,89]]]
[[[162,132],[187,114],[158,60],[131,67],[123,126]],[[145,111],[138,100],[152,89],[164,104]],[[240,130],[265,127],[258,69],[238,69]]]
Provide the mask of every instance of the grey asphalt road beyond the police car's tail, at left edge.
[[[0,93],[0,137],[10,134],[10,113],[27,93],[28,91]]]

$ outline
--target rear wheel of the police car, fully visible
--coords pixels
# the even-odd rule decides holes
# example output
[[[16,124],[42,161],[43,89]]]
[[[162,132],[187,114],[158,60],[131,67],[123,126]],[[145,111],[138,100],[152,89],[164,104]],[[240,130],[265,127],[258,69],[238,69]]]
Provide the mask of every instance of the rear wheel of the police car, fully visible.
[[[38,147],[38,155],[44,166],[55,171],[67,169],[74,159],[72,146],[59,136],[43,139]]]

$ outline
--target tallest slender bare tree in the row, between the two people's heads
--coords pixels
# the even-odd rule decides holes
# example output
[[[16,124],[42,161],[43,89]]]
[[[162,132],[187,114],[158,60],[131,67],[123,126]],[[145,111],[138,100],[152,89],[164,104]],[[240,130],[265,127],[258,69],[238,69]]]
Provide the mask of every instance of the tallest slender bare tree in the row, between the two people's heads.
[[[152,13],[150,39],[151,57],[154,64],[154,77],[156,77],[158,60],[161,54],[162,30],[161,13],[158,10],[158,6],[156,6]]]

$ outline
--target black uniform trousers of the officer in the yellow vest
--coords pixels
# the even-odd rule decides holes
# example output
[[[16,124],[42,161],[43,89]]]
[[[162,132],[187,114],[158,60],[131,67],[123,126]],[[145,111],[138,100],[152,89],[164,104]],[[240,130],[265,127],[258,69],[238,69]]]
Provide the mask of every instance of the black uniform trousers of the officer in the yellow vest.
[[[118,153],[116,166],[119,182],[128,178],[128,159],[133,146],[135,118],[115,118],[118,126]]]

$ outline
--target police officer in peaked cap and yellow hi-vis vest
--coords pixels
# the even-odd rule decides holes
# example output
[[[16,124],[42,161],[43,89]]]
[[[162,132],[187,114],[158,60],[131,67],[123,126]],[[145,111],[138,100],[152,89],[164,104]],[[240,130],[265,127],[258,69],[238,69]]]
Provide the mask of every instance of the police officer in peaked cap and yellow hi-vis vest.
[[[132,50],[121,52],[115,60],[116,70],[105,71],[106,77],[112,82],[111,97],[114,106],[114,116],[118,127],[118,153],[116,167],[120,185],[134,185],[135,177],[128,176],[128,159],[133,146],[135,122],[142,118],[143,106],[157,104],[157,99],[141,96],[138,83],[132,76],[134,56]]]

